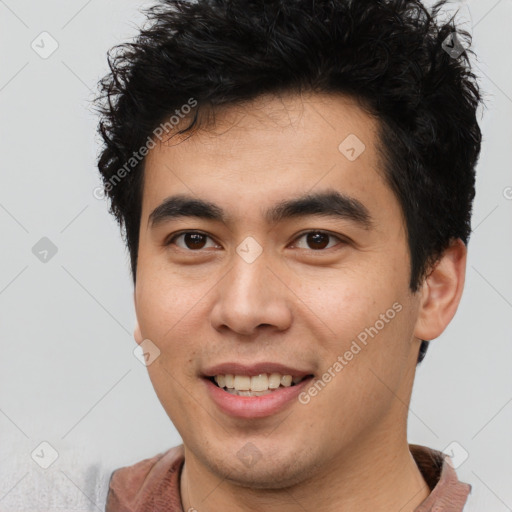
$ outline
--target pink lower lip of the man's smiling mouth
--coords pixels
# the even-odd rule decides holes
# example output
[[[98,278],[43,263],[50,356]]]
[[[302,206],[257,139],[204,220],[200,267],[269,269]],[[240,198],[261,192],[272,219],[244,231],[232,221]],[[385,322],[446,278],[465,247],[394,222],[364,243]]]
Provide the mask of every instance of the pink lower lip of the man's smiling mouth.
[[[264,418],[276,414],[290,402],[297,400],[313,377],[307,377],[295,386],[279,387],[276,391],[262,396],[232,395],[216,386],[211,380],[207,378],[203,380],[210,397],[224,413],[237,418]]]

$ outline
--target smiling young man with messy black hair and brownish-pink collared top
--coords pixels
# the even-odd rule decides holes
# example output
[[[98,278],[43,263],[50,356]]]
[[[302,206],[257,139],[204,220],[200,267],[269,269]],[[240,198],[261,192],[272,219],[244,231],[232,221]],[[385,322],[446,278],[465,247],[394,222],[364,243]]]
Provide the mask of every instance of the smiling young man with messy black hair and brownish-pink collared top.
[[[406,429],[481,143],[442,5],[167,0],[117,48],[99,169],[183,444],[115,471],[108,512],[463,509]]]

